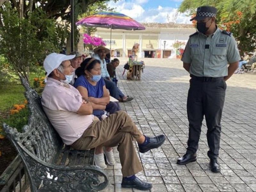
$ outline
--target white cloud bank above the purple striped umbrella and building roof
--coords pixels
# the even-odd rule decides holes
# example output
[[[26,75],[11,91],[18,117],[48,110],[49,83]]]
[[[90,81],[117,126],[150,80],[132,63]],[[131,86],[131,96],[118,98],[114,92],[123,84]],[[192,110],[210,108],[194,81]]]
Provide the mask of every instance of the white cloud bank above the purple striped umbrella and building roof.
[[[115,10],[117,12],[121,12],[139,22],[176,22],[184,24],[192,23],[191,21],[189,21],[190,17],[187,16],[188,13],[178,13],[177,16],[175,16],[177,9],[173,7],[162,7],[159,5],[156,8],[145,10],[143,8],[143,4],[147,2],[148,0],[132,0],[130,2],[121,0],[117,1],[116,3],[110,1],[108,3],[108,6],[116,8]]]

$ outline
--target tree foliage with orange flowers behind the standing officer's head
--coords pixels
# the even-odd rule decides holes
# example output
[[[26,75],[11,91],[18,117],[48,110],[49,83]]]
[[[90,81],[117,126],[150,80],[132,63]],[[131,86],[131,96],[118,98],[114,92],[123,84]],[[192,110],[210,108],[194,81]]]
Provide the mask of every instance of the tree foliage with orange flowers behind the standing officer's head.
[[[256,0],[184,0],[180,12],[196,13],[196,7],[209,5],[218,9],[221,29],[233,33],[242,51],[254,51],[256,46]]]

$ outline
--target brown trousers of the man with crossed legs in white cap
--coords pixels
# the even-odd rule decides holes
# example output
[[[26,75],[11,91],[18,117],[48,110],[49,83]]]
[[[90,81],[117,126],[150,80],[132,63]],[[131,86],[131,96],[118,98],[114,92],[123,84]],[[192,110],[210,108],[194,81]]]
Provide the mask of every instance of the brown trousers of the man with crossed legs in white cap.
[[[72,147],[84,150],[97,146],[118,146],[123,177],[127,177],[142,171],[142,165],[133,146],[133,140],[140,137],[141,133],[131,117],[124,111],[117,111],[103,121],[93,122]]]

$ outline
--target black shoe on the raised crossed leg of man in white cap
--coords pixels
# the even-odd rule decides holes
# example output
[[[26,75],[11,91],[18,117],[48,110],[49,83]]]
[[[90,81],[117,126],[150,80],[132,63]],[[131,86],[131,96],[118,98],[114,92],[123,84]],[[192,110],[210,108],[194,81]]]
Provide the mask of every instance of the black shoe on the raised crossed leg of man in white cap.
[[[144,146],[139,145],[140,153],[146,153],[150,149],[160,147],[165,141],[165,136],[164,135],[158,135],[156,137],[148,137],[148,139],[149,139],[148,144],[146,144]]]

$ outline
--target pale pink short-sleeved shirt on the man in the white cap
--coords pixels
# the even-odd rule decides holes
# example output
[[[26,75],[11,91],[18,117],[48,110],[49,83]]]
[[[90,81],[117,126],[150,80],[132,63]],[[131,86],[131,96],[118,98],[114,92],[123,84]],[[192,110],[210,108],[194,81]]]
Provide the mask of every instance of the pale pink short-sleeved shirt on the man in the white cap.
[[[75,87],[66,85],[48,78],[41,101],[47,117],[63,142],[71,145],[92,124],[94,116],[76,113],[83,103],[82,96]]]

